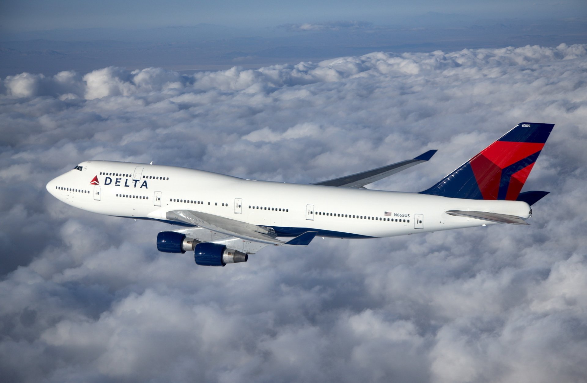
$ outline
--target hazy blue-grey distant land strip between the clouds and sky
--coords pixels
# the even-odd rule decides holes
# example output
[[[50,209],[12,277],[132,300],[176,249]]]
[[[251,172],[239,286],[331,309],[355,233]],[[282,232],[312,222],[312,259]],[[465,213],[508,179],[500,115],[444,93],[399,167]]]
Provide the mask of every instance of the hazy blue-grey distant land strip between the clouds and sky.
[[[0,78],[19,73],[89,73],[109,66],[161,67],[195,72],[295,65],[371,52],[454,52],[587,43],[587,18],[468,20],[427,12],[406,25],[367,21],[289,23],[272,28],[237,28],[212,23],[141,29],[60,28],[4,33]],[[415,23],[418,26],[407,24]]]

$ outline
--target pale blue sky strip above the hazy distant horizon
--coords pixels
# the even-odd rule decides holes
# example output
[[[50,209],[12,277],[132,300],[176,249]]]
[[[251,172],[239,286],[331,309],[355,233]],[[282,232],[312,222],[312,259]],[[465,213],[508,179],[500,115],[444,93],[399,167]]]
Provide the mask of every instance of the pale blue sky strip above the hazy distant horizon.
[[[458,13],[472,18],[552,18],[585,16],[581,0],[561,1],[4,1],[0,23],[7,30],[56,28],[149,28],[215,23],[268,27],[282,23],[365,20],[380,24],[405,21],[426,12]]]

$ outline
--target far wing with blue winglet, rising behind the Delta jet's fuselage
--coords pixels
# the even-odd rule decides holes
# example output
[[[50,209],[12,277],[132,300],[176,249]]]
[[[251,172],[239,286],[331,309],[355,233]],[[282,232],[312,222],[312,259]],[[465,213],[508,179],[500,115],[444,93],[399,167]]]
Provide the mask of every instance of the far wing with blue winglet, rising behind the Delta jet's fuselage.
[[[434,153],[436,153],[436,150],[429,150],[411,160],[396,162],[395,164],[386,165],[380,168],[367,170],[356,174],[345,175],[345,177],[329,179],[328,181],[315,182],[312,185],[360,188],[367,184],[372,184],[375,181],[379,181],[385,177],[389,177],[390,175],[396,174],[402,170],[406,170],[407,168],[411,168],[414,165],[426,162],[432,158]]]

